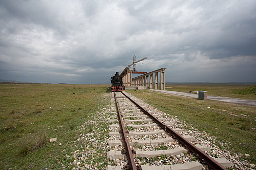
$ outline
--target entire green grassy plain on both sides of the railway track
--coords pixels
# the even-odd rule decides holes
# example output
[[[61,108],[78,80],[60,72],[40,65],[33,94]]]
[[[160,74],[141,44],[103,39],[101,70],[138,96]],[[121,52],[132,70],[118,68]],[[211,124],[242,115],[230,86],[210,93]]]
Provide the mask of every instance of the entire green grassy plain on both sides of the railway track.
[[[167,87],[184,92],[210,91],[209,87],[202,89],[201,86]],[[225,91],[225,88],[228,89],[226,96],[230,97],[241,95],[233,94],[234,91],[248,91],[246,86],[211,87],[217,96],[222,94],[220,89]],[[79,132],[75,130],[82,124],[85,129],[95,131],[85,122],[97,116],[97,111],[103,107],[98,102],[109,91],[109,85],[0,85],[0,169],[61,169],[60,162],[72,162],[67,160],[66,154],[74,152],[76,144],[71,147],[66,143],[78,138]],[[149,90],[128,92],[165,113],[186,120],[201,131],[217,136],[220,141],[230,143],[233,152],[248,153],[251,156],[246,159],[256,162],[256,130],[252,129],[256,127],[256,107]],[[254,97],[247,95],[241,96]],[[57,142],[49,142],[54,137],[57,137]]]

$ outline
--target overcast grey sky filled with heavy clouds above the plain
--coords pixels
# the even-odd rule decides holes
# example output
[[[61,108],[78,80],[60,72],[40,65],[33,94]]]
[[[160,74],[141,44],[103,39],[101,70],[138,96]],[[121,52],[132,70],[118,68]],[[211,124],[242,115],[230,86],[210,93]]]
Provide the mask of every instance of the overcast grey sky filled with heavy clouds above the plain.
[[[108,84],[134,55],[166,82],[256,82],[256,0],[0,0],[0,79]]]

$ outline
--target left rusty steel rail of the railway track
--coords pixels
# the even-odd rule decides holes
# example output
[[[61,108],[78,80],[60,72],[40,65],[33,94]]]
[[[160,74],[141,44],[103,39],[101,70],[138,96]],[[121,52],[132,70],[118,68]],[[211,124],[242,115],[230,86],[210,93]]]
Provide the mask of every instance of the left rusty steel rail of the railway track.
[[[117,103],[118,119],[119,119],[119,123],[120,123],[120,129],[121,129],[121,134],[122,134],[122,137],[123,137],[123,144],[124,144],[124,147],[125,147],[126,156],[127,156],[127,159],[128,159],[128,167],[129,167],[129,170],[137,170],[137,167],[136,167],[136,164],[135,164],[135,161],[134,161],[134,158],[133,158],[133,153],[132,153],[132,150],[131,150],[131,147],[130,147],[130,143],[127,139],[127,135],[126,135],[126,132],[125,132],[125,128],[124,128],[123,120],[122,120],[122,117],[121,117],[121,112],[120,112],[120,109],[119,109],[119,104],[118,104],[116,92],[114,92],[114,97],[115,97],[115,101]]]

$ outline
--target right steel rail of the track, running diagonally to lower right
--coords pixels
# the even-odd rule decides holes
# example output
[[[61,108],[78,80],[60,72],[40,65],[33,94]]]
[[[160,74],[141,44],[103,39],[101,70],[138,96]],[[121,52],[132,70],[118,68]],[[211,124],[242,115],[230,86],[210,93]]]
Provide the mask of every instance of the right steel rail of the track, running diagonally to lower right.
[[[191,151],[192,153],[197,154],[199,160],[202,163],[206,163],[210,168],[213,170],[227,170],[223,165],[218,163],[216,160],[214,160],[212,157],[210,157],[208,154],[202,152],[199,148],[197,148],[194,144],[189,142],[187,139],[179,135],[176,131],[174,131],[172,128],[170,128],[168,125],[165,125],[161,121],[159,121],[156,117],[154,117],[151,113],[149,113],[147,110],[145,110],[143,107],[141,107],[137,102],[133,101],[131,98],[129,98],[127,95],[125,95],[123,92],[122,94],[128,98],[131,102],[133,102],[143,113],[148,115],[151,119],[154,120],[155,123],[157,123],[162,129],[164,129],[166,132],[168,132],[171,136],[176,138],[186,149]]]

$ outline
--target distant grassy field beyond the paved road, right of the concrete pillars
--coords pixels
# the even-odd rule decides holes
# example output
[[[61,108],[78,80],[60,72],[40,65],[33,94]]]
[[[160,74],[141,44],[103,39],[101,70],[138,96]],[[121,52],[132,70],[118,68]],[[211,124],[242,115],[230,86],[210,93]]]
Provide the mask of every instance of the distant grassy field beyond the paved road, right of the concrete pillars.
[[[158,88],[160,89],[160,88]],[[180,84],[165,85],[165,90],[179,91],[189,93],[189,91],[207,91],[208,95],[224,96],[239,99],[256,100],[256,85],[245,84],[222,84],[222,83],[205,83],[205,84]]]

